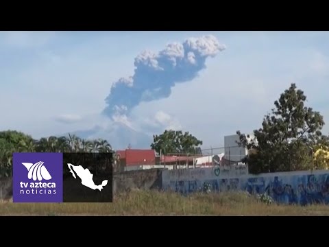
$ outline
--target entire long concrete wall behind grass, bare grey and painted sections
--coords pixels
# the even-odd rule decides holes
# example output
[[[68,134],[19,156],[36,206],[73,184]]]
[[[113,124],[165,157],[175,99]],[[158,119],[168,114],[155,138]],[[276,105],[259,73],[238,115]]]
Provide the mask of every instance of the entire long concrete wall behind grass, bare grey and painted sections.
[[[234,175],[235,174],[235,175]],[[329,203],[329,171],[246,174],[218,171],[218,167],[123,172],[113,176],[114,193],[129,189],[171,189],[193,193],[209,183],[214,191],[269,193],[277,202],[291,204]],[[0,200],[12,197],[12,178],[0,178]]]

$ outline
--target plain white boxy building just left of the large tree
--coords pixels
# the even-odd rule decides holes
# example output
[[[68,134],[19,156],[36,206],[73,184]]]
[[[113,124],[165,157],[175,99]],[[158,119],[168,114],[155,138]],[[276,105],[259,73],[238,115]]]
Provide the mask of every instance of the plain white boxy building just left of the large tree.
[[[248,141],[254,138],[254,134],[249,134]],[[232,134],[224,137],[225,158],[233,162],[239,162],[248,155],[247,148],[239,147],[239,135]]]

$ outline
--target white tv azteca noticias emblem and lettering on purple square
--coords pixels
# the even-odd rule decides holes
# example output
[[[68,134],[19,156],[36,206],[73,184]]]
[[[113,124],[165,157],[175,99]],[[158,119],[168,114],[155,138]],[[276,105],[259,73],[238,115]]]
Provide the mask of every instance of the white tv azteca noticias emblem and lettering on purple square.
[[[49,174],[47,168],[44,165],[45,162],[43,161],[39,161],[35,164],[33,163],[22,163],[27,171],[27,178],[29,180],[39,180],[42,181],[43,180],[50,180],[51,179],[51,175]],[[20,193],[21,194],[56,194],[56,183],[42,183],[42,182],[38,182],[38,183],[24,183],[23,181],[21,181],[19,183],[21,185],[21,190]]]

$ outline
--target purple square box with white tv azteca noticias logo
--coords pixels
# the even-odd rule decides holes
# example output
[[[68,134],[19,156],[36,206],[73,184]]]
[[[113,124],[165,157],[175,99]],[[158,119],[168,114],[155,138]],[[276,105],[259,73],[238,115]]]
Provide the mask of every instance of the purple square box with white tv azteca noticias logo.
[[[63,202],[62,153],[14,153],[13,202]]]

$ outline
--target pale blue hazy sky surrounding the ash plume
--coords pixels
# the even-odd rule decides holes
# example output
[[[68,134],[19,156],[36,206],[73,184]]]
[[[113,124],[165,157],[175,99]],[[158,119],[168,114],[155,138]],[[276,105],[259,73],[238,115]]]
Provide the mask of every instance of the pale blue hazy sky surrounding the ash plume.
[[[112,84],[134,75],[142,51],[209,34],[226,49],[196,78],[129,115],[101,115]],[[117,121],[149,135],[190,131],[204,148],[219,147],[224,135],[259,128],[295,82],[324,115],[328,134],[328,43],[328,32],[0,32],[0,130],[40,138]]]

